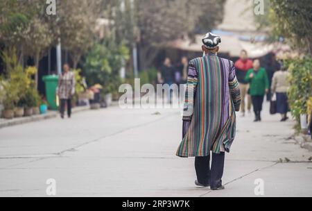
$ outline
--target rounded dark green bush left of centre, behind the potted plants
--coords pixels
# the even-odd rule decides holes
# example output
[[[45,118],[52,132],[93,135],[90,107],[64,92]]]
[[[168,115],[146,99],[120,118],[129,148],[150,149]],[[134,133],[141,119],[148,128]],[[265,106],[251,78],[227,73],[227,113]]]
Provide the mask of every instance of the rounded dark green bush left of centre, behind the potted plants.
[[[128,48],[116,45],[112,40],[94,44],[86,56],[84,65],[88,85],[102,85],[103,94],[118,91],[121,85],[119,71],[128,58]]]

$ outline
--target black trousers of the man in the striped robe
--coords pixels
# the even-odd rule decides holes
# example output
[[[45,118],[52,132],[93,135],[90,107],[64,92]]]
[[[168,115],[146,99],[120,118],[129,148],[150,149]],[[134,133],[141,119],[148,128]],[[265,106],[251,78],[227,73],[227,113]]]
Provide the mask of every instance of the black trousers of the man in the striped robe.
[[[212,153],[211,168],[210,155],[207,157],[195,158],[195,169],[198,183],[219,187],[222,185],[225,153]]]

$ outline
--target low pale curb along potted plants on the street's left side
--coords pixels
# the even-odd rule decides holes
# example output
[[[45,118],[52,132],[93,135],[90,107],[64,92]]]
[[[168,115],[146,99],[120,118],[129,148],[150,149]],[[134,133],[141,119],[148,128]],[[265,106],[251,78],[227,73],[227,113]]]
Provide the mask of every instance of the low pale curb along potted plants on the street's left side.
[[[89,110],[89,109],[90,109],[89,106],[76,107],[76,108],[73,108],[72,112],[74,114],[74,113],[83,112],[83,111]],[[34,121],[42,121],[45,119],[52,119],[55,117],[58,117],[58,111],[49,111],[45,115],[35,115],[35,116],[31,116],[31,117],[21,117],[21,118],[17,118],[17,119],[8,119],[8,120],[4,120],[4,122],[0,122],[0,129],[10,127],[10,126],[17,126],[20,124],[26,124],[26,123],[34,122]]]

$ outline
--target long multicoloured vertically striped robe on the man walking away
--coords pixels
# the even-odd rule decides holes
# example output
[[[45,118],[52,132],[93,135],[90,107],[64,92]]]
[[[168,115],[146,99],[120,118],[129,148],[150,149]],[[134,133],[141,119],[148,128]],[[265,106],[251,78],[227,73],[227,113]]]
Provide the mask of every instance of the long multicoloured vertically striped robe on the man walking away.
[[[227,151],[236,133],[241,105],[234,63],[216,54],[189,62],[183,114],[183,140],[177,156],[202,157]]]

